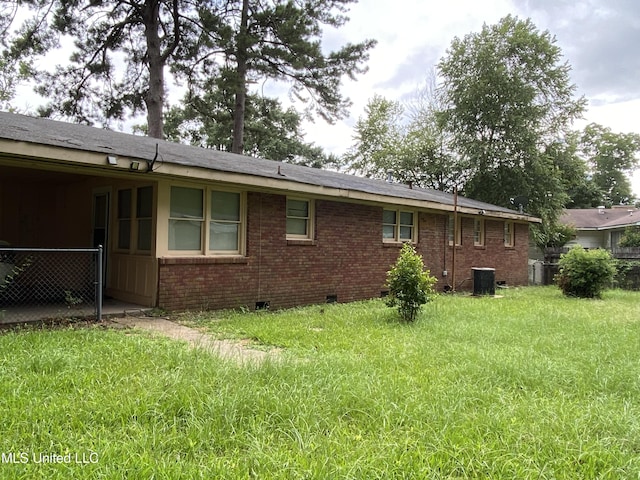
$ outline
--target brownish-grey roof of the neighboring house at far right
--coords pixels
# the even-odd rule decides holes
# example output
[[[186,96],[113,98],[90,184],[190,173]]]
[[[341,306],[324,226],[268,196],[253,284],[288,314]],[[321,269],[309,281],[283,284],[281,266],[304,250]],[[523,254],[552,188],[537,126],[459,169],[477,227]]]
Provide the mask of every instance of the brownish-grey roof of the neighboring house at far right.
[[[560,223],[578,230],[610,230],[640,224],[640,211],[632,206],[574,208],[565,210]]]

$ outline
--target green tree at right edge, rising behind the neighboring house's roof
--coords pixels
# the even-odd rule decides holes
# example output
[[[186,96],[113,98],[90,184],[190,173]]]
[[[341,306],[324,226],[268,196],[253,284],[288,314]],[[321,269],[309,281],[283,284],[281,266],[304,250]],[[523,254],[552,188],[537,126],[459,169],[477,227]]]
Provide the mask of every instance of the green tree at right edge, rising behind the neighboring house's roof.
[[[580,144],[593,172],[593,184],[603,192],[602,203],[607,206],[633,204],[628,174],[639,165],[640,135],[613,133],[607,127],[591,123],[584,128]]]

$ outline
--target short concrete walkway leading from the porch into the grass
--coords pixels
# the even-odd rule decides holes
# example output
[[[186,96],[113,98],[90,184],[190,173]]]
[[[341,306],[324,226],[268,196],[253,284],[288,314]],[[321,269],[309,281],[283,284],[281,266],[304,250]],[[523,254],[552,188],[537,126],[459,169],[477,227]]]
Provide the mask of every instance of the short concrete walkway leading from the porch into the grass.
[[[112,322],[127,328],[139,328],[154,332],[174,340],[187,341],[194,348],[202,348],[222,358],[239,363],[261,362],[277,357],[277,351],[255,350],[247,347],[246,342],[237,340],[217,340],[210,335],[193,328],[185,327],[165,318],[156,317],[123,317],[112,318]]]

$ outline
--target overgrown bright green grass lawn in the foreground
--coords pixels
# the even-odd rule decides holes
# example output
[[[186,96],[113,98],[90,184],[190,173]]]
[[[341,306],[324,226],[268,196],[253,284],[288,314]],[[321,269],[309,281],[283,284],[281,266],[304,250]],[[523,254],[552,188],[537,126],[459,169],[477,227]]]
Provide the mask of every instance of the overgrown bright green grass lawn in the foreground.
[[[380,300],[179,317],[282,349],[262,365],[130,331],[4,333],[0,478],[639,478],[640,294],[500,293],[409,325]]]

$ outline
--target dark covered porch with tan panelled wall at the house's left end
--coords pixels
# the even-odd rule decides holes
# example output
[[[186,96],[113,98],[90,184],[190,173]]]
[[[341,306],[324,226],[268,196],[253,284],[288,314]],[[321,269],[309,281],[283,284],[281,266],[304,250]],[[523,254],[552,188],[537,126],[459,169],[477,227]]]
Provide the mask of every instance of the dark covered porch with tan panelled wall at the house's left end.
[[[105,305],[112,300],[137,308],[155,306],[157,185],[148,176],[125,172],[0,157],[0,246],[102,245]],[[51,262],[40,283],[55,285],[48,278],[64,278],[68,263]],[[2,284],[15,262],[0,266]]]

